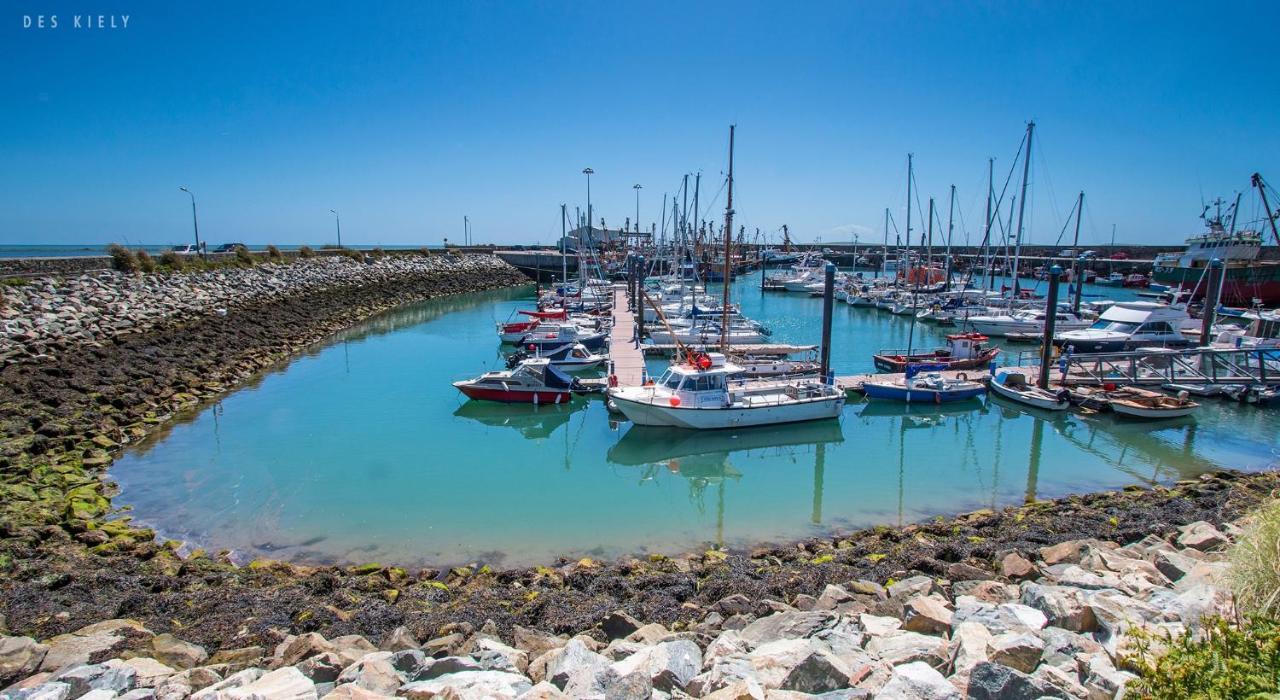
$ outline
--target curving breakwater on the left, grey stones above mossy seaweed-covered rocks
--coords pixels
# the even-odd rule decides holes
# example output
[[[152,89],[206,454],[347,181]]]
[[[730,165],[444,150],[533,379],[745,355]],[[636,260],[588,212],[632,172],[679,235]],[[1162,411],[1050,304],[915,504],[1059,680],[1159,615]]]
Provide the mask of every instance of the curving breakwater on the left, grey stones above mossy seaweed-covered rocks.
[[[68,536],[148,555],[150,532],[108,520],[122,445],[374,314],[525,282],[493,256],[403,255],[0,288],[0,564]]]

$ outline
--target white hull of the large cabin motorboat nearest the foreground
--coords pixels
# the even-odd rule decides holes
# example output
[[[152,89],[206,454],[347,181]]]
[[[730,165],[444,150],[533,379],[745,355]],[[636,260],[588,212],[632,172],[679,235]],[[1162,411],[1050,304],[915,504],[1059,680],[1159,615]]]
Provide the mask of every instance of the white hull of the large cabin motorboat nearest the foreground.
[[[840,412],[845,407],[844,395],[753,408],[681,408],[631,401],[616,394],[611,395],[611,398],[618,407],[618,411],[622,411],[622,415],[636,425],[684,427],[689,430],[723,430],[755,425],[818,421],[840,416]]]

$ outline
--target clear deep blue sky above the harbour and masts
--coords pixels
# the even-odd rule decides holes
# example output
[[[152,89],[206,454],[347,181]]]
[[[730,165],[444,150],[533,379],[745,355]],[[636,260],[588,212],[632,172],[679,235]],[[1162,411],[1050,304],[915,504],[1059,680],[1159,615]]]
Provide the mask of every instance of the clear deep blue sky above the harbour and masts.
[[[549,243],[585,166],[611,227],[635,183],[646,227],[684,173],[716,193],[730,123],[737,223],[799,241],[901,225],[908,152],[977,241],[987,157],[1002,180],[1028,119],[1032,242],[1080,189],[1085,244],[1176,243],[1202,197],[1280,183],[1274,0],[4,0],[0,23],[0,243],[186,242],[179,186],[212,243],[332,242],[330,209],[346,243],[458,241],[463,215]]]

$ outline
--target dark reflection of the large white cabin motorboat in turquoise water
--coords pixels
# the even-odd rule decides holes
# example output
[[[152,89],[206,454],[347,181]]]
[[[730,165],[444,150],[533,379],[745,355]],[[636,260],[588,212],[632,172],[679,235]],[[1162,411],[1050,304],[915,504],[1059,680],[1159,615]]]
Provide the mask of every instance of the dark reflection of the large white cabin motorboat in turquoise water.
[[[822,522],[822,488],[827,465],[827,445],[845,441],[838,420],[744,427],[739,430],[684,430],[632,425],[608,452],[609,462],[644,467],[641,482],[657,477],[658,470],[689,481],[689,497],[699,512],[707,509],[707,489],[716,486],[716,544],[724,545],[724,484],[742,479],[730,462],[753,453],[805,452],[813,447],[813,508],[810,522]]]

